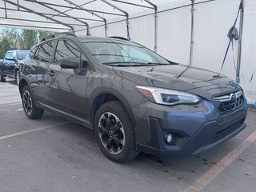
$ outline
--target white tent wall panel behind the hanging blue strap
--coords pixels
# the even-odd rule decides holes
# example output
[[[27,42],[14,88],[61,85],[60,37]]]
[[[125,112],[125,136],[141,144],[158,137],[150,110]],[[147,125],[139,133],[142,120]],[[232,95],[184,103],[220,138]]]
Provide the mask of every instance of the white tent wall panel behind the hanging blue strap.
[[[194,54],[193,66],[219,72],[226,47],[227,33],[233,26],[240,0],[206,2],[194,6]],[[237,22],[239,28],[239,19]],[[238,41],[234,42],[234,59],[237,62]],[[230,78],[236,78],[231,46],[221,71]]]

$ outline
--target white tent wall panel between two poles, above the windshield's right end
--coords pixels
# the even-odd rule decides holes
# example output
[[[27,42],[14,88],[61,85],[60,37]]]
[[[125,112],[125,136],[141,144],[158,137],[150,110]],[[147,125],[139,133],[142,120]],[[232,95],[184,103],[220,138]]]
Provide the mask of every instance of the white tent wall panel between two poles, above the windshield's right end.
[[[158,14],[158,54],[173,62],[190,63],[190,6]]]

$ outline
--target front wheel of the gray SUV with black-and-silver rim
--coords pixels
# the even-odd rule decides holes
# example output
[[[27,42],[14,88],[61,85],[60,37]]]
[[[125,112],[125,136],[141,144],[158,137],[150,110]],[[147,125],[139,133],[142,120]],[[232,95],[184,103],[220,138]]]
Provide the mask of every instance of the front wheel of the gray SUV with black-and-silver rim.
[[[138,155],[134,127],[120,102],[106,102],[94,118],[94,131],[103,154],[114,162],[128,162]]]

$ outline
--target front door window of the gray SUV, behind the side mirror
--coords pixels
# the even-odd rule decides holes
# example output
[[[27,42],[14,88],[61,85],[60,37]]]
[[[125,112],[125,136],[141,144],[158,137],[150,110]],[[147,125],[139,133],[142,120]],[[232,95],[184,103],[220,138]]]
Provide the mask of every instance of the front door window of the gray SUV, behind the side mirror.
[[[61,58],[71,57],[79,58],[80,60],[81,56],[82,52],[78,49],[78,46],[76,46],[73,42],[63,40],[58,42],[54,62],[58,63]]]

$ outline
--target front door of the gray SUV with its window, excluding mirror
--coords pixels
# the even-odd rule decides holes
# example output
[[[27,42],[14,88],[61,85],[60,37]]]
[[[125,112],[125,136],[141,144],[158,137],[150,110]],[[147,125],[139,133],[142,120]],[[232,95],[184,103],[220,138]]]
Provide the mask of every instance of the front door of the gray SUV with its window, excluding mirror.
[[[76,57],[80,61],[79,69],[63,69],[59,62],[61,58]],[[86,87],[91,66],[86,55],[72,41],[59,40],[54,54],[54,63],[49,66],[50,106],[72,114],[79,118],[87,118],[86,107],[88,96]]]

